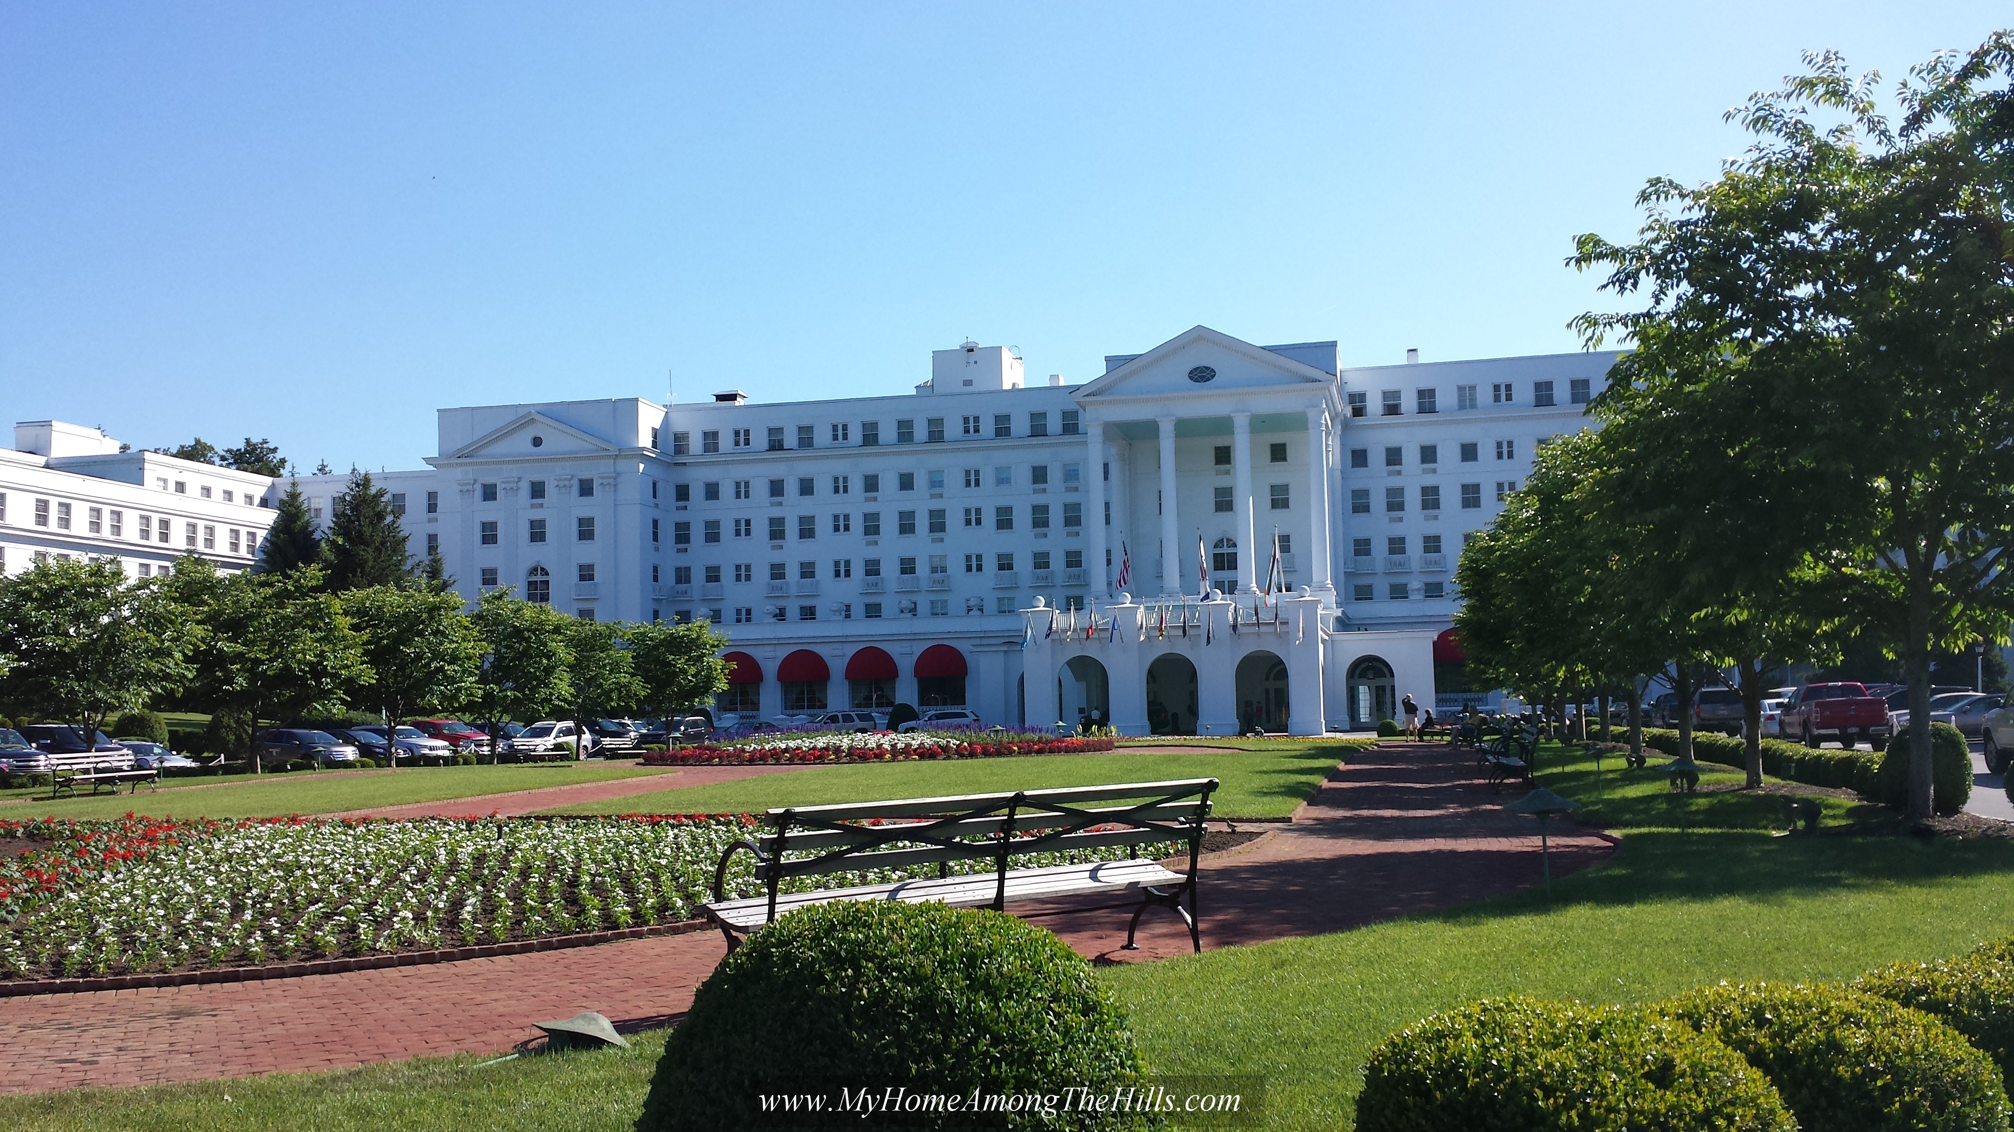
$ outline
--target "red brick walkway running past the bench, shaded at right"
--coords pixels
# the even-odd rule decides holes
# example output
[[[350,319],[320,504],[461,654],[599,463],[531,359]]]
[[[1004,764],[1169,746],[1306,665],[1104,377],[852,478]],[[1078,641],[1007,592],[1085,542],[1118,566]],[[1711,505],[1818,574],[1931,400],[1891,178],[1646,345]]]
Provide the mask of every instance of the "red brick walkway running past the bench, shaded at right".
[[[1529,820],[1498,810],[1510,798],[1490,794],[1472,757],[1446,747],[1363,751],[1291,826],[1206,860],[1204,947],[1341,931],[1537,884],[1539,838]],[[1553,836],[1553,872],[1607,852],[1609,842],[1569,826]],[[1134,953],[1118,951],[1130,912],[1067,902],[1017,910],[1090,957],[1188,953],[1188,933],[1164,910],[1142,921]],[[0,1092],[506,1051],[536,1033],[530,1023],[584,1009],[640,1029],[675,1019],[723,951],[719,933],[693,933],[433,967],[4,999]]]

